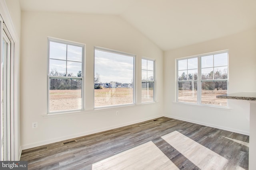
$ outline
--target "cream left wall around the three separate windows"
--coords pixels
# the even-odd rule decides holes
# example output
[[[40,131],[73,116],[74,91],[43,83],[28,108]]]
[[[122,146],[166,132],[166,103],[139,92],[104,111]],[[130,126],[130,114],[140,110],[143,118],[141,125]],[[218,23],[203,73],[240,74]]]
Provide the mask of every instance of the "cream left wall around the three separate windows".
[[[163,52],[126,21],[106,15],[22,12],[21,32],[22,149],[113,129],[163,114]],[[86,44],[85,111],[46,115],[48,36]],[[137,55],[136,105],[93,110],[94,46]],[[141,104],[142,57],[156,59],[154,104]],[[32,129],[32,122],[38,122],[38,128]]]

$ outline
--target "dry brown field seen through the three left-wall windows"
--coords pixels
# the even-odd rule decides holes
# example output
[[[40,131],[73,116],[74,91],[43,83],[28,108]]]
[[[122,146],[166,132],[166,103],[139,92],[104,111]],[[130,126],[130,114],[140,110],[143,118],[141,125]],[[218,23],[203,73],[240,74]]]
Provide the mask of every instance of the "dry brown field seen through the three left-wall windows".
[[[82,108],[81,90],[50,90],[50,111]],[[153,90],[142,89],[142,102],[153,101]],[[102,88],[94,90],[94,106],[133,103],[133,88]]]

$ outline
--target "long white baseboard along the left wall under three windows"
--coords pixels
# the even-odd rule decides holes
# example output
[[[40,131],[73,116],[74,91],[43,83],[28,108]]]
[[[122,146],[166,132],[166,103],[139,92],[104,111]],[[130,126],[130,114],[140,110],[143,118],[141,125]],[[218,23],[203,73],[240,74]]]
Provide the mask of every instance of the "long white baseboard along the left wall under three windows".
[[[22,148],[22,150],[25,150],[25,149],[30,149],[30,148],[34,148],[34,147],[39,147],[39,146],[47,145],[47,144],[50,144],[50,143],[65,141],[65,140],[69,140],[69,139],[73,139],[73,138],[77,138],[77,137],[82,137],[82,136],[91,135],[91,134],[94,134],[94,133],[99,133],[99,132],[108,131],[108,130],[111,130],[111,129],[116,129],[116,128],[119,128],[119,127],[124,127],[124,126],[127,126],[127,125],[132,125],[132,124],[135,124],[135,123],[140,123],[140,122],[143,122],[143,121],[148,121],[148,120],[151,120],[151,119],[156,119],[156,118],[159,118],[159,117],[162,117],[162,116],[163,115],[157,115],[157,116],[153,116],[153,117],[148,117],[146,119],[131,121],[131,122],[120,124],[120,125],[115,125],[115,126],[105,127],[105,128],[101,128],[101,129],[96,129],[96,130],[93,130],[93,131],[87,131],[87,132],[83,132],[83,133],[67,135],[67,136],[64,136],[64,137],[49,139],[49,140],[40,141],[40,142],[36,142],[36,143],[30,143],[30,144],[27,144],[27,145],[22,145],[21,148]],[[20,152],[20,154],[21,154],[21,152]]]

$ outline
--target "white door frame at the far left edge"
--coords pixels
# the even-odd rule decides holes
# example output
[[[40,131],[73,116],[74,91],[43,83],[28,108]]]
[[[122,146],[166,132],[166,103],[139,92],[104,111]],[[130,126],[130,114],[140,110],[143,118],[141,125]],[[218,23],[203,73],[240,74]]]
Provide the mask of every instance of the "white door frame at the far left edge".
[[[20,160],[21,156],[21,147],[20,147],[20,105],[19,105],[19,59],[20,59],[20,42],[19,38],[16,33],[16,29],[12,22],[12,18],[10,13],[8,12],[8,7],[6,5],[5,0],[0,0],[0,47],[2,48],[2,35],[3,31],[6,33],[8,38],[11,41],[10,44],[10,84],[8,85],[8,90],[10,90],[10,96],[8,98],[9,108],[10,108],[10,156],[8,159],[11,161],[13,160]],[[2,50],[0,52],[2,55]],[[9,68],[8,68],[9,69]]]

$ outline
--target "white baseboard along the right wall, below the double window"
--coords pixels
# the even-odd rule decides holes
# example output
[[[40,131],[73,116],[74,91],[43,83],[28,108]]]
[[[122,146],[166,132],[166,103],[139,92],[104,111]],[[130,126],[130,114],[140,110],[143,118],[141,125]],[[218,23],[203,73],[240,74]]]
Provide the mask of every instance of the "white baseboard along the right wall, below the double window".
[[[187,122],[190,122],[190,123],[196,123],[196,124],[199,124],[199,125],[214,127],[214,128],[222,129],[222,130],[225,130],[225,131],[240,133],[242,135],[248,135],[248,136],[250,135],[250,132],[248,132],[248,131],[241,131],[241,130],[238,130],[238,129],[233,129],[233,128],[219,126],[219,125],[213,125],[213,124],[210,124],[210,123],[195,121],[195,120],[191,120],[191,119],[184,119],[182,117],[177,117],[177,116],[172,116],[172,115],[164,115],[164,117],[169,117],[169,118],[172,118],[172,119],[178,119],[178,120],[187,121]]]

